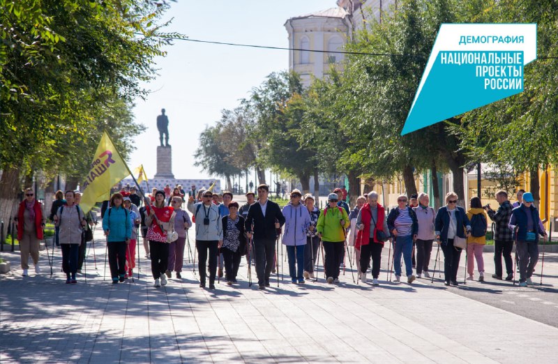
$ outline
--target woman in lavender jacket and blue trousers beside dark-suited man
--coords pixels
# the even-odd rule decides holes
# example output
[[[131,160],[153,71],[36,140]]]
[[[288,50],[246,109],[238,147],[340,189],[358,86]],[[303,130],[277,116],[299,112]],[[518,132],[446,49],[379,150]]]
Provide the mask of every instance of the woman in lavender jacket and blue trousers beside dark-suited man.
[[[301,204],[301,198],[302,194],[299,190],[292,190],[291,202],[282,209],[282,214],[285,216],[282,243],[287,246],[289,275],[295,284],[297,281],[304,283],[304,247],[306,230],[310,227],[310,213],[308,208]]]

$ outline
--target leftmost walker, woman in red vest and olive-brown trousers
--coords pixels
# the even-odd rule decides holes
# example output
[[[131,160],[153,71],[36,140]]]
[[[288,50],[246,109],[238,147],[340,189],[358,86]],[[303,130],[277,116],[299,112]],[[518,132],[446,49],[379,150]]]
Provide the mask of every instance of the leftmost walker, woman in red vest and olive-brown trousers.
[[[20,241],[20,252],[22,256],[23,275],[27,276],[29,269],[29,255],[35,264],[35,273],[40,273],[39,244],[43,239],[45,228],[45,211],[43,205],[35,199],[32,188],[25,190],[25,199],[17,211],[17,240]]]

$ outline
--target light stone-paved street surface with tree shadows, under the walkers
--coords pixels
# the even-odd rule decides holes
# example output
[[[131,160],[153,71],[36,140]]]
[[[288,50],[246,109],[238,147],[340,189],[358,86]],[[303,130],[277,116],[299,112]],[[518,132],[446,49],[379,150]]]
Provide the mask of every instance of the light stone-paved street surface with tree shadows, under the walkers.
[[[327,285],[322,273],[319,282],[292,285],[284,267],[279,287],[273,278],[271,288],[259,291],[248,287],[244,259],[239,285],[221,281],[210,291],[198,287],[186,257],[183,279],[156,289],[143,249],[140,280],[135,275],[135,282],[119,285],[108,275],[103,280],[105,244],[99,231],[94,252],[97,268],[89,250],[87,282],[78,275],[77,285],[64,284],[58,248],[52,278],[45,251],[43,273],[27,278],[20,276],[17,252],[2,254],[13,268],[0,278],[0,363],[555,363],[557,358],[558,328],[459,294],[478,282],[447,288],[440,280],[432,285],[421,279],[395,285],[384,281],[382,269],[381,285],[372,288],[354,284],[347,269],[340,285]],[[387,249],[384,253],[385,268]],[[490,256],[485,255],[487,271]],[[545,263],[553,276],[545,287],[557,283],[556,258]],[[518,291],[508,282],[495,284]],[[536,310],[540,303],[531,302]]]

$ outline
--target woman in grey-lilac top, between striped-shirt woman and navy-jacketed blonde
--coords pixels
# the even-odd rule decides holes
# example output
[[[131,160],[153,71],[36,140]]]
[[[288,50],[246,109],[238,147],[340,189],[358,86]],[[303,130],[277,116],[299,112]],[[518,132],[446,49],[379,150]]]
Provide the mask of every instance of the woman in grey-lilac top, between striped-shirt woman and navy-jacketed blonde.
[[[416,234],[416,277],[430,278],[428,264],[432,253],[432,242],[435,238],[434,222],[436,213],[434,208],[428,206],[430,198],[424,192],[418,195],[418,206],[413,207],[418,222],[418,233]]]

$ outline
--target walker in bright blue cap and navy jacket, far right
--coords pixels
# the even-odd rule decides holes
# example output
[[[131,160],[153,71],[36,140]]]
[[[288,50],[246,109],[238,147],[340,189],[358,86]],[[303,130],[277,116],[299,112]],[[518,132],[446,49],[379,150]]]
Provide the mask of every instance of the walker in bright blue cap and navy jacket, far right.
[[[533,206],[531,192],[523,194],[520,206],[513,208],[508,227],[515,238],[515,250],[519,258],[519,286],[533,285],[531,276],[538,261],[538,238],[547,237],[545,229],[541,229],[541,218]]]

